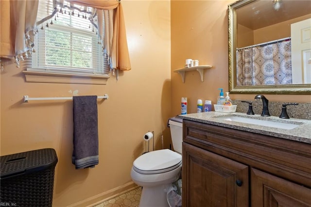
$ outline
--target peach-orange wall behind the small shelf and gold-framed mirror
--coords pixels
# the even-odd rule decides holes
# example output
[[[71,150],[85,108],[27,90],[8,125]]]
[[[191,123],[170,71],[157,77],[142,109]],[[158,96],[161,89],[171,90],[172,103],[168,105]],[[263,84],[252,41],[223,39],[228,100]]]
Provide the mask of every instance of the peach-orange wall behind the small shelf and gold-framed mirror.
[[[197,99],[217,101],[218,88],[228,91],[227,5],[234,0],[171,1],[172,115],[180,114],[180,99],[188,97],[188,113],[196,112]],[[186,72],[185,83],[174,69],[185,59],[198,59],[204,82],[196,71]],[[254,100],[256,94],[230,94],[231,99]],[[311,102],[310,95],[265,95],[270,101]]]

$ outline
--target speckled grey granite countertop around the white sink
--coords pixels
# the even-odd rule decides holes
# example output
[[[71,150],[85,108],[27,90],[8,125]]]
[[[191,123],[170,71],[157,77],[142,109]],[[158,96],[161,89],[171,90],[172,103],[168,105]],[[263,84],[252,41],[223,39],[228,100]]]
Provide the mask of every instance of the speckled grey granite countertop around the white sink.
[[[294,129],[280,129],[276,127],[261,126],[257,124],[242,123],[238,121],[227,121],[222,119],[226,116],[237,116],[243,118],[253,118],[259,120],[267,120],[281,123],[297,124],[298,127]],[[223,126],[232,129],[238,129],[246,132],[253,132],[262,135],[273,136],[277,138],[291,139],[311,144],[311,120],[304,119],[280,119],[279,117],[261,117],[260,115],[246,115],[245,113],[222,113],[222,112],[203,112],[193,113],[187,115],[178,115],[178,118],[197,121],[217,126]],[[284,124],[285,125],[285,124]]]

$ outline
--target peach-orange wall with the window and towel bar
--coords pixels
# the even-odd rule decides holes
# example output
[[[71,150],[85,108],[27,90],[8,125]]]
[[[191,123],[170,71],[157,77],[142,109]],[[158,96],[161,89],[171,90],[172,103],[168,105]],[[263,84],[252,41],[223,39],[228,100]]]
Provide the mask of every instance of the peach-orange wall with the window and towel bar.
[[[1,72],[1,155],[54,148],[53,206],[103,198],[109,190],[131,187],[132,163],[143,152],[143,135],[155,131],[155,145],[170,144],[167,120],[171,114],[170,1],[122,0],[132,70],[106,86],[26,83],[14,64]],[[75,170],[72,154],[72,101],[30,101],[30,97],[103,95],[98,101],[99,165]],[[151,144],[152,146],[152,144]],[[152,147],[151,147],[152,148]],[[98,197],[98,198],[97,198]]]

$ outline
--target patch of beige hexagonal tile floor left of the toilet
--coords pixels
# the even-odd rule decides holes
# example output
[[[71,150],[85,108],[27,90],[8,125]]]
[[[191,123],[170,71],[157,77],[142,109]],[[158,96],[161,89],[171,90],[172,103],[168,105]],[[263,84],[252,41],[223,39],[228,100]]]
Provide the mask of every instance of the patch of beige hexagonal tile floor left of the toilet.
[[[141,187],[128,191],[95,207],[138,207]]]

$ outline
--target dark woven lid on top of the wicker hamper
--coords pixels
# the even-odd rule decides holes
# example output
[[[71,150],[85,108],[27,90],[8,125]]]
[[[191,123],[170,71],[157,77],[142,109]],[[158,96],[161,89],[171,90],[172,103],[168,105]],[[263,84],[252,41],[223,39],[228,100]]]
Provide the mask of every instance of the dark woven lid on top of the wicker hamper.
[[[56,163],[57,155],[51,148],[0,156],[0,178],[42,171]]]

